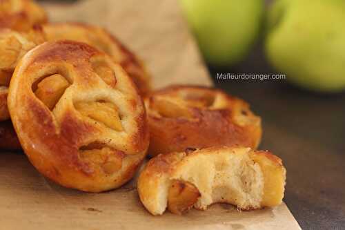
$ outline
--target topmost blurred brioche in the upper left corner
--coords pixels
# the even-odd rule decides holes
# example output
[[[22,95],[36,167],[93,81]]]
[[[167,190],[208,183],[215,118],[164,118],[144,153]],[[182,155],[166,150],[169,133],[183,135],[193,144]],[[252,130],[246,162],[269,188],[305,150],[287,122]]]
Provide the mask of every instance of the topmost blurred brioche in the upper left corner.
[[[31,0],[1,0],[0,28],[18,31],[30,30],[32,26],[46,23],[47,14]]]

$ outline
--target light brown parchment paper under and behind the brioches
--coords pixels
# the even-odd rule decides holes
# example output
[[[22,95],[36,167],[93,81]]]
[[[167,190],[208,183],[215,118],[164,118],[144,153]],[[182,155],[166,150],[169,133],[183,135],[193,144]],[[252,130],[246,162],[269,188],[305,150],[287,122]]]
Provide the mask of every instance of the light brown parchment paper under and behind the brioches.
[[[144,59],[155,88],[211,85],[175,0],[86,0],[44,5],[52,21],[84,21],[108,28]],[[65,189],[43,178],[21,153],[0,153],[0,229],[300,229],[282,204],[237,211],[215,204],[186,215],[154,217],[141,205],[135,180],[106,193]]]

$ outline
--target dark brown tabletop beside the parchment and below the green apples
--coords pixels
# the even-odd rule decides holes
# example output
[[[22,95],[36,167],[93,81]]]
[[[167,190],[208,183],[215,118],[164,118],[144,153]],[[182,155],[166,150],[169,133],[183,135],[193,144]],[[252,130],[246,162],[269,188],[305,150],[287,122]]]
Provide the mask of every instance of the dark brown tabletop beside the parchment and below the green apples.
[[[284,200],[302,229],[345,229],[345,93],[311,93],[285,80],[215,79],[217,73],[277,73],[264,57],[262,39],[241,64],[208,68],[217,88],[242,97],[262,117],[260,148],[282,158]]]

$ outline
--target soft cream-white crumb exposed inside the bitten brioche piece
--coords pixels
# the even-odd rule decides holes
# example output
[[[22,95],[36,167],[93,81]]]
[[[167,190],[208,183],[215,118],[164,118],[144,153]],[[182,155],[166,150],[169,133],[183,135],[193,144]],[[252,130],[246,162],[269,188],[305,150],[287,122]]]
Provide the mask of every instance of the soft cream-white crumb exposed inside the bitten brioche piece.
[[[194,205],[197,209],[218,202],[257,209],[264,193],[264,175],[259,164],[250,159],[249,151],[233,148],[192,153],[179,164],[171,179],[189,182],[199,189],[201,197]]]

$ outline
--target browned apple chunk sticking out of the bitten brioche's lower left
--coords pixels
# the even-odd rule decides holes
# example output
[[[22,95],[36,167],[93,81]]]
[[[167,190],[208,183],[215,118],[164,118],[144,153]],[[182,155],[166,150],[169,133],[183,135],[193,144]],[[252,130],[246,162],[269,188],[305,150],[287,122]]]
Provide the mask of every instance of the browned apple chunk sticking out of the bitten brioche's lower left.
[[[193,184],[174,180],[168,191],[168,209],[181,215],[193,207],[200,195]]]

